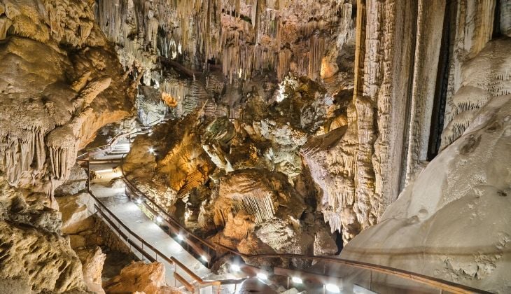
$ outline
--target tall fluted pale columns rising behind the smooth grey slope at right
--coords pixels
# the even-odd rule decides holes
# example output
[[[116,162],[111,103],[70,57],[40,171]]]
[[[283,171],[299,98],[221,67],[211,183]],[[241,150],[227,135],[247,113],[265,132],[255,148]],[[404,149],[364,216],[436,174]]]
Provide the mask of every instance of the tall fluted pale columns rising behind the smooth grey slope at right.
[[[496,10],[495,1],[357,1],[353,99],[332,121],[331,134],[310,139],[302,152],[325,192],[325,221],[342,231],[345,242],[379,223],[405,183],[427,164],[428,152],[435,152],[430,145],[437,144],[431,134],[441,132],[441,125],[432,126],[433,116],[444,118],[445,148],[477,109],[509,92],[504,52],[509,6],[499,4]],[[501,40],[485,48],[496,11]],[[450,47],[442,49],[442,34]],[[444,55],[449,71],[438,82]],[[445,109],[435,102],[439,83],[447,85]]]

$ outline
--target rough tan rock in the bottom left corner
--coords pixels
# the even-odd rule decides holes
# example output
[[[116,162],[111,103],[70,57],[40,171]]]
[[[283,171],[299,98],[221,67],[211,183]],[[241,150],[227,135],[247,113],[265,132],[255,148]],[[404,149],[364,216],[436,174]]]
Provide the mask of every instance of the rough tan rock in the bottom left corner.
[[[0,205],[2,283],[21,284],[35,293],[85,290],[80,260],[60,236],[59,212],[46,206],[48,198],[24,197],[0,176]]]

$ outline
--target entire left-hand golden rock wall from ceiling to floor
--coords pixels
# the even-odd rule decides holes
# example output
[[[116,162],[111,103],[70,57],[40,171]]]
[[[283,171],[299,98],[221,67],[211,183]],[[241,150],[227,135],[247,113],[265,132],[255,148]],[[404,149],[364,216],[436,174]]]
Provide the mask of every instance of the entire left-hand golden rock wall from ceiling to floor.
[[[87,230],[77,221],[87,207],[76,213],[60,202],[63,224],[53,197],[78,150],[134,102],[134,81],[95,24],[93,3],[0,1],[3,293],[104,293],[104,254],[67,235]],[[57,194],[76,200],[81,189],[71,183]]]

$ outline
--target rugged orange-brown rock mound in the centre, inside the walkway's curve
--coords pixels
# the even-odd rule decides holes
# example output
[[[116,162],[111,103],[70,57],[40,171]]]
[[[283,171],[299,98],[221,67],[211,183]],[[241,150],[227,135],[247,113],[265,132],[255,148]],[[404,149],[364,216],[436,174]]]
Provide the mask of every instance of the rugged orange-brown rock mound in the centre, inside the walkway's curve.
[[[191,230],[240,252],[336,253],[300,158],[332,103],[328,95],[318,101],[314,83],[302,87],[309,92],[290,91],[272,105],[249,98],[239,120],[202,110],[154,127],[135,139],[127,178]]]

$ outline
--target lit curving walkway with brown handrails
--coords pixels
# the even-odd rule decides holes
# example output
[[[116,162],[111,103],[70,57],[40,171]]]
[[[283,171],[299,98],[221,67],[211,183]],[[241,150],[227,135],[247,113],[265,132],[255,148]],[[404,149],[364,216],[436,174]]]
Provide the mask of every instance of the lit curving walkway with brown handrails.
[[[124,235],[125,239],[130,240],[131,245],[135,248],[139,247],[137,250],[133,249],[133,252],[141,259],[147,260],[141,252],[145,251],[146,256],[148,258],[153,258],[157,256],[157,254],[153,251],[153,249],[148,248],[148,246],[152,246],[155,251],[159,251],[160,258],[158,261],[162,262],[165,265],[166,269],[166,279],[167,285],[169,286],[188,286],[187,288],[193,290],[194,293],[212,293],[213,290],[218,291],[218,293],[233,293],[235,290],[235,285],[232,283],[232,280],[224,280],[223,282],[219,281],[222,278],[227,279],[236,279],[236,276],[232,274],[227,274],[227,276],[214,276],[211,271],[202,264],[201,260],[197,260],[193,255],[188,253],[178,241],[172,239],[167,235],[162,228],[156,225],[151,218],[148,218],[146,214],[144,214],[143,209],[137,206],[134,202],[131,202],[129,197],[125,194],[126,186],[125,181],[123,179],[123,174],[120,172],[120,169],[116,169],[118,165],[120,165],[120,160],[124,153],[129,151],[129,141],[126,139],[120,140],[117,142],[116,146],[113,146],[113,150],[108,154],[104,153],[92,153],[92,158],[90,158],[90,170],[94,171],[97,174],[97,179],[94,179],[90,183],[91,192],[99,199],[104,207],[99,211],[102,215],[104,214],[104,210],[109,210],[109,214],[113,216],[113,218],[117,218],[118,221],[111,221],[111,228],[118,230],[120,235]],[[135,188],[136,189],[136,188]],[[146,197],[147,198],[147,197]],[[98,202],[98,200],[96,200]],[[157,205],[157,204],[155,204]],[[144,207],[145,208],[145,207]],[[98,207],[98,209],[100,209]],[[172,217],[171,217],[172,218]],[[175,220],[174,220],[175,222]],[[123,228],[123,225],[119,223],[123,223],[126,228]],[[178,223],[179,225],[179,223]],[[129,231],[128,231],[129,230]],[[130,232],[131,231],[131,232]],[[191,233],[190,233],[191,234]],[[140,238],[137,239],[136,237]],[[140,241],[144,241],[146,246]],[[197,241],[197,240],[196,240]],[[205,242],[200,239],[199,241]],[[190,240],[188,240],[188,244],[193,246],[193,242],[190,244]],[[129,244],[129,243],[127,243]],[[185,244],[183,244],[184,246]],[[211,245],[209,245],[211,248]],[[141,248],[140,248],[141,247]],[[295,254],[261,254],[261,255],[244,255],[237,251],[233,251],[231,248],[223,247],[223,250],[230,251],[231,253],[242,256],[244,258],[297,258],[302,260],[315,260],[316,262],[323,262],[323,274],[313,274],[311,272],[302,272],[300,270],[290,270],[283,268],[274,268],[275,276],[286,277],[289,283],[290,277],[293,277],[293,281],[302,276],[304,279],[308,281],[312,281],[314,285],[320,285],[321,288],[318,289],[319,292],[325,293],[339,293],[340,289],[337,288],[337,285],[342,285],[342,279],[335,278],[334,276],[339,276],[338,269],[341,267],[351,267],[364,269],[368,279],[367,279],[367,288],[371,288],[372,285],[372,272],[377,274],[383,274],[384,276],[392,276],[399,277],[400,279],[406,279],[408,283],[413,282],[414,284],[419,284],[420,289],[426,288],[437,288],[441,290],[447,290],[454,293],[486,293],[482,290],[470,288],[467,286],[459,285],[456,283],[452,283],[450,281],[443,281],[440,279],[435,279],[430,276],[424,276],[422,274],[416,274],[413,272],[407,272],[402,269],[394,269],[391,267],[383,267],[380,265],[372,265],[364,262],[358,262],[355,260],[343,260],[340,258],[334,258],[329,256],[307,256],[307,255],[295,255]],[[216,250],[216,247],[215,247]],[[166,260],[164,260],[166,259]],[[176,267],[176,264],[181,264],[179,267]],[[328,265],[328,266],[327,266]],[[325,270],[325,269],[329,270]],[[258,278],[267,279],[265,276],[265,271],[262,269],[258,269],[255,267],[250,267],[244,265],[244,268],[248,270],[252,270],[251,275],[258,274]],[[310,268],[309,270],[313,269]],[[183,269],[187,269],[186,272]],[[333,269],[333,271],[332,271]],[[244,272],[244,270],[242,271]],[[178,279],[174,279],[174,274]],[[262,274],[262,276],[260,276]],[[270,274],[267,272],[267,274]],[[333,274],[333,276],[331,276]],[[342,275],[341,275],[342,276]],[[214,282],[211,281],[203,281],[205,278],[209,277],[211,280],[216,280]],[[218,279],[220,278],[220,279]],[[297,279],[301,283],[301,279]],[[316,280],[316,281],[314,281]],[[337,281],[333,281],[337,280]],[[181,283],[176,282],[181,281]],[[209,285],[201,288],[197,285],[197,281],[199,283]],[[239,283],[241,280],[237,280],[235,283]],[[257,280],[255,280],[257,281]],[[330,282],[329,282],[330,281]],[[224,283],[225,282],[225,283]],[[334,284],[332,284],[332,282]],[[219,288],[213,288],[211,283],[216,283]],[[220,285],[222,283],[222,285]],[[279,282],[280,283],[280,282]],[[188,284],[188,285],[187,285]],[[192,286],[193,284],[194,286]],[[410,283],[412,285],[412,283]],[[355,293],[370,293],[367,292],[366,289],[352,285],[353,292]],[[383,284],[383,286],[391,286]],[[357,288],[357,290],[355,289]],[[408,286],[405,288],[411,289]],[[346,290],[346,289],[344,289]],[[351,289],[349,289],[351,290]],[[362,291],[362,292],[359,292]]]

